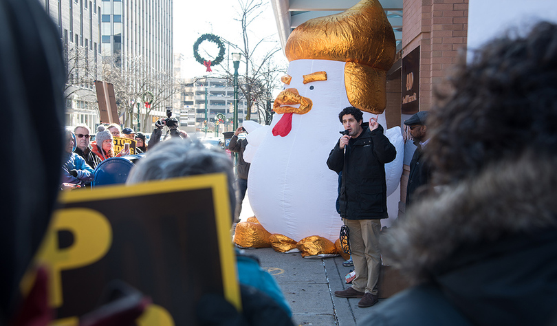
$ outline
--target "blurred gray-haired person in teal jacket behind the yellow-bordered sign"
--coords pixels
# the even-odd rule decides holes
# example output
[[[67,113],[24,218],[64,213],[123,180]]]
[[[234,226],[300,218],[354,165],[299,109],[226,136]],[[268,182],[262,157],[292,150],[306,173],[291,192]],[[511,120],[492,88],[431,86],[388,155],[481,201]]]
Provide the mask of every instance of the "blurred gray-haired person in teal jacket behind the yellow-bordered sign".
[[[228,180],[230,214],[236,206],[232,162],[220,150],[206,149],[200,142],[172,138],[149,150],[130,171],[126,184],[166,180],[187,175],[225,173]],[[237,268],[243,312],[222,296],[201,298],[198,318],[201,325],[293,325],[292,312],[279,285],[259,267],[257,259],[237,252]]]

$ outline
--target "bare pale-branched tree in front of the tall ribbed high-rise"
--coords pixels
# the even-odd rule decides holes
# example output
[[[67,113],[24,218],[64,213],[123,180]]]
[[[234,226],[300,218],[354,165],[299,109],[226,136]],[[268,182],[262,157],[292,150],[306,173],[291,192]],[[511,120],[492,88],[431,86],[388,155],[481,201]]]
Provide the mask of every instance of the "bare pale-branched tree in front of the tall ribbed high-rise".
[[[179,83],[170,74],[150,68],[140,57],[128,56],[124,60],[119,54],[114,57],[117,61],[109,59],[103,63],[104,79],[114,85],[120,114],[124,109],[125,126],[133,127],[143,111],[142,126],[146,130],[154,109],[172,105],[173,95],[179,92]],[[139,129],[137,124],[135,127]]]

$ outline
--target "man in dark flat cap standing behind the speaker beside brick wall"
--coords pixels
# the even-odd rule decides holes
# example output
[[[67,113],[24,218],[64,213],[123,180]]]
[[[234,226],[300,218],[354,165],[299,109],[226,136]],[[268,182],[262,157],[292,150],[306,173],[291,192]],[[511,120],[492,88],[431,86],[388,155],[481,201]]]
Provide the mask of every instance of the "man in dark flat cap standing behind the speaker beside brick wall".
[[[422,155],[424,147],[429,142],[427,118],[428,111],[419,111],[404,121],[404,124],[410,128],[410,134],[416,145],[410,162],[410,175],[408,175],[408,185],[406,186],[406,207],[415,199],[416,189],[428,184],[430,180],[431,169]]]

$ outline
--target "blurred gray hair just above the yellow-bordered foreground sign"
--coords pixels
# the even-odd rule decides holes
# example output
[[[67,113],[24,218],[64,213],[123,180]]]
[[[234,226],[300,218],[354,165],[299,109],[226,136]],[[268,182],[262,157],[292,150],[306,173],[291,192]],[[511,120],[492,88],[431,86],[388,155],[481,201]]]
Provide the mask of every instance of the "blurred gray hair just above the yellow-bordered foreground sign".
[[[138,164],[133,166],[126,184],[207,173],[226,173],[230,210],[233,216],[236,208],[236,192],[232,161],[225,153],[216,149],[206,149],[198,141],[171,138],[157,144],[139,160]]]

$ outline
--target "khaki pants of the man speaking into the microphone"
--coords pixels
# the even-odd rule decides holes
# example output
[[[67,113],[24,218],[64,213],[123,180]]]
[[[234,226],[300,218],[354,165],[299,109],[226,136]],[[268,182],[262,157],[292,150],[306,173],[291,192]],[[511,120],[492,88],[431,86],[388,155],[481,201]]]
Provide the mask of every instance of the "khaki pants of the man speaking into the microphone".
[[[350,253],[356,278],[352,288],[377,295],[381,253],[379,250],[380,219],[344,219],[349,229]]]

